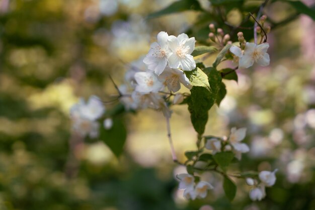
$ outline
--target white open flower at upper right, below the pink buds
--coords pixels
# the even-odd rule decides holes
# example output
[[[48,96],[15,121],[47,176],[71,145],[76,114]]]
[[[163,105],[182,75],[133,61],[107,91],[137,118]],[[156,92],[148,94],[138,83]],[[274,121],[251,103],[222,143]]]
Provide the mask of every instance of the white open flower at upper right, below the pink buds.
[[[270,58],[269,58],[269,54],[267,53],[268,47],[269,47],[268,43],[263,43],[263,44],[257,45],[255,43],[246,42],[246,46],[244,49],[244,55],[240,59],[239,67],[240,68],[248,68],[248,67],[252,66],[254,64],[254,62],[257,62],[261,66],[269,65]],[[234,49],[235,48],[233,48],[232,50],[234,50]],[[239,52],[237,52],[237,53],[239,54]]]

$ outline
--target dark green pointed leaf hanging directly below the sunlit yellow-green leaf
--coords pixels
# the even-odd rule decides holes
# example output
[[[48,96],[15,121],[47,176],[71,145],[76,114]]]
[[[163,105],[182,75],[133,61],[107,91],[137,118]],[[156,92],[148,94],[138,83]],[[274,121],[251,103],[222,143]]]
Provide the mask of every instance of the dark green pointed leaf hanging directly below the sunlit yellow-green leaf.
[[[190,119],[195,130],[201,135],[208,121],[208,110],[214,104],[214,98],[208,88],[193,86],[188,103]]]

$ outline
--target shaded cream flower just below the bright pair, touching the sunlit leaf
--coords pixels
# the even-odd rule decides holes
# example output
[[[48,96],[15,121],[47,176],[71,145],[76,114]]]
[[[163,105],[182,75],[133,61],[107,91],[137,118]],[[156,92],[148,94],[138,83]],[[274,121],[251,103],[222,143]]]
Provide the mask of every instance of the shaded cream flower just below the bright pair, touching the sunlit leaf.
[[[159,79],[163,82],[164,86],[167,86],[168,89],[173,92],[177,92],[181,89],[181,83],[189,90],[192,88],[189,79],[180,69],[166,68],[159,76]]]

